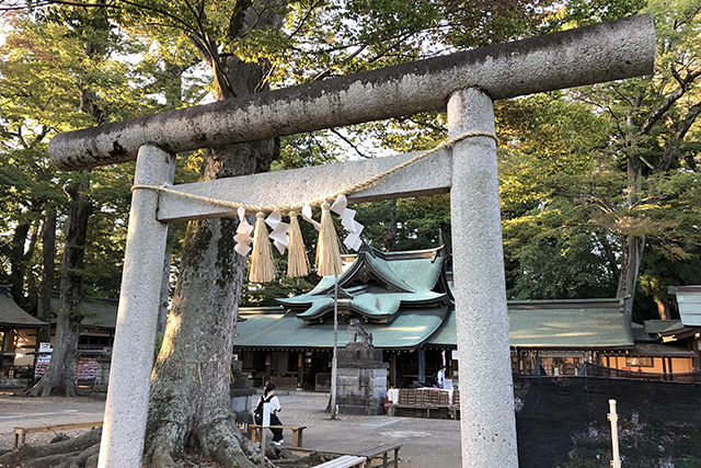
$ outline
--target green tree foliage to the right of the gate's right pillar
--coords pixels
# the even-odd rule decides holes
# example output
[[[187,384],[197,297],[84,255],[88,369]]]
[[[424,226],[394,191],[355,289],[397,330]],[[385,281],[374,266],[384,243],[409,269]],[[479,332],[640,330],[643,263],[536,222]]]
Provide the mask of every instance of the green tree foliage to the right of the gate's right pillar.
[[[698,284],[701,14],[691,3],[651,3],[660,52],[654,77],[497,107],[510,295],[570,297],[565,284],[578,290],[574,297],[617,294],[619,271],[635,254],[642,254],[639,293],[659,304],[668,285]],[[567,3],[553,24],[578,25],[590,8],[608,15],[637,4],[601,7]],[[625,250],[629,238],[645,239],[644,250]],[[564,264],[572,261],[582,270]]]

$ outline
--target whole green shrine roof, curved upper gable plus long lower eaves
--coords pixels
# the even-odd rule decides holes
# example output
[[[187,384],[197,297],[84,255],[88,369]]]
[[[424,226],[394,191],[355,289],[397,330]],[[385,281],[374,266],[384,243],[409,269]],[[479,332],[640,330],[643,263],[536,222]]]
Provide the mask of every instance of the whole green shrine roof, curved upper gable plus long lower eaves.
[[[360,315],[381,349],[456,347],[456,310],[440,249],[348,255],[338,277],[341,315]],[[279,299],[285,308],[242,309],[235,347],[325,349],[333,345],[334,278]],[[527,349],[625,350],[634,344],[620,299],[508,301],[509,342]],[[480,313],[479,310],[463,313]],[[302,319],[302,320],[299,320]],[[345,326],[341,326],[342,336]],[[343,338],[341,339],[343,341]]]

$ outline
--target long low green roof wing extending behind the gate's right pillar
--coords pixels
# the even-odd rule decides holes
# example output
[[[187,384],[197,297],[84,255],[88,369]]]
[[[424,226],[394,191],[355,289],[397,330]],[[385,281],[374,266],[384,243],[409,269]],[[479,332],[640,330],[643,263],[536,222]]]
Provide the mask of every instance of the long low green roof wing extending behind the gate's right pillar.
[[[517,347],[614,349],[633,345],[618,299],[509,301],[509,342]],[[455,346],[455,310],[426,345]]]

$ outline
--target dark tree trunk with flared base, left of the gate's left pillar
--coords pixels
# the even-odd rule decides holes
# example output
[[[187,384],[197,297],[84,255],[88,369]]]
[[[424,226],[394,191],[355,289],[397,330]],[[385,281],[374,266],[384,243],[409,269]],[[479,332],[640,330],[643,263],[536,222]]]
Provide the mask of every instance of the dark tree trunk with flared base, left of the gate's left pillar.
[[[76,395],[76,354],[78,351],[79,327],[83,319],[83,260],[88,219],[92,213],[90,198],[78,183],[68,186],[71,207],[66,226],[66,248],[61,269],[60,296],[58,299],[58,322],[51,361],[46,374],[30,390],[34,397],[50,395]]]

